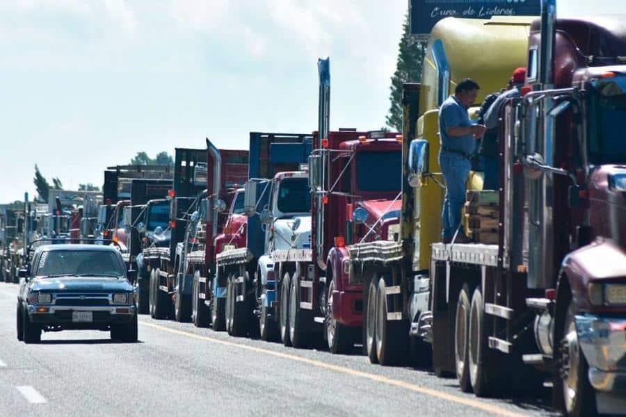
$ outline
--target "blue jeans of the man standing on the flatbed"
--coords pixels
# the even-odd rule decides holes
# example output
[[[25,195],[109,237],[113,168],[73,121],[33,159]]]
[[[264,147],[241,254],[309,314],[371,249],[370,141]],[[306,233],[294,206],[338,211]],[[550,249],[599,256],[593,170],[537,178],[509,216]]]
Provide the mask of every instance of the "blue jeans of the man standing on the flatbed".
[[[465,182],[472,164],[463,155],[440,152],[439,165],[446,181],[446,199],[441,213],[442,236],[454,236],[460,224],[460,211],[465,204]]]

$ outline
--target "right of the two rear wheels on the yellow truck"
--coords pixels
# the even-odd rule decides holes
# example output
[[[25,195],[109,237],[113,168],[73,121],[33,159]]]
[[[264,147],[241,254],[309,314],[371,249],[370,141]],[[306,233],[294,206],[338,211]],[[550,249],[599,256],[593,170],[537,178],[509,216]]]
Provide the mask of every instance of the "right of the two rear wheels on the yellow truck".
[[[408,342],[408,330],[402,334],[401,322],[387,320],[387,283],[384,277],[378,279],[376,294],[376,353],[378,363],[383,366],[394,365],[401,359],[403,339]]]

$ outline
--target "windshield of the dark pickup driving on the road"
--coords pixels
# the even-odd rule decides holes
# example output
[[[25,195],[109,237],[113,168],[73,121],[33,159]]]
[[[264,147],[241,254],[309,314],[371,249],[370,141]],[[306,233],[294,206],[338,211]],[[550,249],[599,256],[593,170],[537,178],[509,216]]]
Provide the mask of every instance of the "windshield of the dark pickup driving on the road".
[[[105,275],[122,277],[124,272],[113,252],[54,250],[44,252],[35,265],[35,275]]]

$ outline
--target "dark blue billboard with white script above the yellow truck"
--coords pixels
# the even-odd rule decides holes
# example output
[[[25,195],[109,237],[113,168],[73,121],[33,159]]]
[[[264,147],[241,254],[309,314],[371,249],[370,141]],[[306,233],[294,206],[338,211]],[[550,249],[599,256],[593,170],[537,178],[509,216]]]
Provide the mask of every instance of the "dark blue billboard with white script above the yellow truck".
[[[411,34],[427,39],[445,17],[490,19],[492,16],[538,16],[540,0],[409,0]]]

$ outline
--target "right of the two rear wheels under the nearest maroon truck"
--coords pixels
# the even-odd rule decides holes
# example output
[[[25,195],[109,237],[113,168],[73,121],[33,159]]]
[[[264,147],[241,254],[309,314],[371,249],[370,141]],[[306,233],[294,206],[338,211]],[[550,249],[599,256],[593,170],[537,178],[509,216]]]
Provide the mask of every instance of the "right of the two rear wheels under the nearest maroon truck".
[[[485,320],[485,304],[481,291],[476,288],[472,295],[469,329],[470,382],[479,397],[496,395],[504,389],[504,361],[499,352],[491,350],[488,341],[490,327]]]

